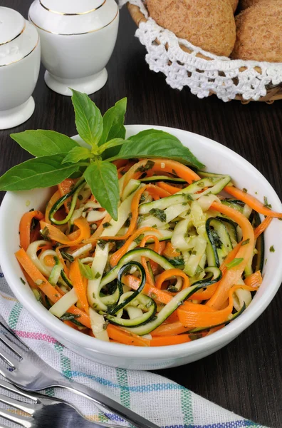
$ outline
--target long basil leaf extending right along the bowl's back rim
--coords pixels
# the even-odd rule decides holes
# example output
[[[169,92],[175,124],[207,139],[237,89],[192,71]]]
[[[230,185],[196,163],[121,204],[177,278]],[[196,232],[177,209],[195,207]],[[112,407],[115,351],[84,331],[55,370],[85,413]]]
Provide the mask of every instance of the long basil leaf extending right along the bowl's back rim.
[[[169,158],[195,168],[204,168],[204,165],[189,151],[189,148],[184,147],[178,138],[164,131],[147,129],[130,137],[129,140],[130,142],[121,146],[117,155],[108,160]]]

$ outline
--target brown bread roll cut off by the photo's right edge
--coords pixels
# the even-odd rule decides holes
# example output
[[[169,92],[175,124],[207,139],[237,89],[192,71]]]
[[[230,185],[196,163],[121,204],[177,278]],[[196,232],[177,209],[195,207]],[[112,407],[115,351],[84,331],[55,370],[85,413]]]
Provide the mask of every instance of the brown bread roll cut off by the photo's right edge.
[[[282,62],[282,1],[261,0],[236,16],[232,58]]]

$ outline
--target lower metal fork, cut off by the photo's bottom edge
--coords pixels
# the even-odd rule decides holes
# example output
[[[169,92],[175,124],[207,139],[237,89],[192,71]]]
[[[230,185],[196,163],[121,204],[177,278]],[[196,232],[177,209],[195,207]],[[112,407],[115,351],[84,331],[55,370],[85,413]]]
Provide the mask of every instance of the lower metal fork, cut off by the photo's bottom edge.
[[[0,387],[9,392],[13,392],[21,397],[31,400],[31,404],[6,397],[5,394],[0,394],[0,402],[14,409],[18,409],[26,415],[11,413],[8,410],[0,408],[0,416],[4,419],[15,422],[24,428],[47,428],[50,427],[50,422],[55,427],[79,427],[79,428],[120,428],[120,425],[102,424],[99,422],[90,422],[82,417],[75,407],[71,404],[63,402],[61,399],[46,397],[41,394],[28,394],[14,385],[0,380]],[[0,427],[2,428],[3,425]],[[55,428],[54,427],[54,428]],[[4,427],[3,427],[4,428]]]

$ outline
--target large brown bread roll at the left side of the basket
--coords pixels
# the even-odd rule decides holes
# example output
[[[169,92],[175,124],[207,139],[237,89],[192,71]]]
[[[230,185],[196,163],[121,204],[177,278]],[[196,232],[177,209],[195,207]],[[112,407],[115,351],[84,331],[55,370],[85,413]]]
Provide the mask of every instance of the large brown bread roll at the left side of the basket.
[[[229,56],[236,40],[230,0],[147,0],[150,16],[180,39],[219,56]]]

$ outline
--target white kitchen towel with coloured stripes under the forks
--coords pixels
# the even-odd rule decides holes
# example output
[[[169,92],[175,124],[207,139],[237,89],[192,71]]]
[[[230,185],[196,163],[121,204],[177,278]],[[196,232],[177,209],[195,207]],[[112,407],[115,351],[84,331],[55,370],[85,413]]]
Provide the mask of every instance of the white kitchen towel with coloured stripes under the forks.
[[[4,275],[0,272],[0,313],[7,324],[26,345],[48,365],[66,377],[112,397],[126,407],[142,414],[165,428],[266,428],[199,397],[179,384],[150,372],[115,369],[83,359],[58,343],[11,295]],[[75,404],[86,417],[98,422],[109,419],[120,422],[114,415],[106,418],[92,402],[71,392],[48,389],[46,394]],[[157,405],[156,405],[157,403]]]

